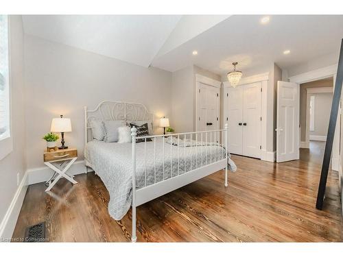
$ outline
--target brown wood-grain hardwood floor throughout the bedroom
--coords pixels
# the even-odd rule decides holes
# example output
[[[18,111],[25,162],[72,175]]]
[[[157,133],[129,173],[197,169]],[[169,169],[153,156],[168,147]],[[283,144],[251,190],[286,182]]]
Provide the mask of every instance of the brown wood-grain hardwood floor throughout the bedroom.
[[[238,170],[218,171],[137,208],[137,237],[144,242],[342,241],[338,174],[329,172],[324,210],[316,210],[323,145],[301,149],[300,158],[276,164],[233,156]],[[45,221],[49,241],[130,241],[131,212],[108,215],[108,192],[94,173],[60,180],[51,193],[29,186],[14,238]]]

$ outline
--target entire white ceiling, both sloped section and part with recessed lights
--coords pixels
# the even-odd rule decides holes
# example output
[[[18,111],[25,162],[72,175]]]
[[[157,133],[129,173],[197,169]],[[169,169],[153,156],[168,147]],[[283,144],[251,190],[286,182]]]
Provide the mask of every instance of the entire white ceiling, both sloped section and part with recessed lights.
[[[196,64],[224,74],[233,61],[241,71],[272,62],[287,69],[340,49],[343,16],[275,15],[265,25],[261,17],[25,15],[23,25],[27,34],[167,71]]]

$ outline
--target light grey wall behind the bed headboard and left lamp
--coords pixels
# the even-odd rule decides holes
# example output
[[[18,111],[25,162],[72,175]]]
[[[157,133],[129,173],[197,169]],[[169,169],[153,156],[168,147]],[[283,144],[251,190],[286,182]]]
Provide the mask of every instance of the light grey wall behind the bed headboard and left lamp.
[[[71,118],[73,132],[67,145],[78,147],[83,158],[84,106],[100,101],[143,103],[156,117],[171,115],[171,73],[144,68],[25,35],[27,167],[43,166],[45,141],[51,119]],[[157,132],[161,132],[158,128]]]

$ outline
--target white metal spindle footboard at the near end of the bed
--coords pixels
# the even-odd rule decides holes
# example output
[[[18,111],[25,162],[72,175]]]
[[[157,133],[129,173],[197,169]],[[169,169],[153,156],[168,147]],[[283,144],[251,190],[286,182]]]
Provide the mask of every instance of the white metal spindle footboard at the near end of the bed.
[[[172,165],[173,162],[171,160],[171,152],[170,152],[170,160],[165,160],[165,136],[164,135],[157,135],[157,136],[139,136],[137,137],[137,129],[136,127],[132,127],[131,129],[131,136],[132,136],[132,242],[137,241],[136,235],[136,208],[137,206],[144,204],[147,201],[151,201],[152,199],[156,199],[161,195],[165,195],[171,191],[176,190],[182,186],[190,184],[191,182],[195,182],[196,180],[200,180],[201,178],[210,175],[211,173],[215,173],[216,171],[220,171],[221,169],[225,169],[225,178],[224,178],[224,186],[228,186],[228,147],[227,147],[227,139],[228,139],[228,125],[225,124],[224,130],[211,130],[211,131],[202,131],[202,132],[188,132],[188,133],[178,133],[178,134],[169,134],[168,136],[172,136],[175,138],[175,143],[170,143],[170,147],[176,147],[177,145],[177,153],[178,153],[178,174],[172,175]],[[137,188],[136,185],[136,140],[137,138],[143,139],[144,143],[144,155],[146,155],[146,144],[147,138],[154,138],[154,183],[147,185],[147,171],[146,171],[146,157],[145,157],[145,183],[144,186],[141,188]],[[163,179],[161,181],[156,182],[156,138],[163,138]],[[189,141],[187,141],[187,138]],[[172,139],[172,138],[171,138]],[[189,145],[187,143],[190,142]],[[196,143],[194,143],[196,142]],[[220,143],[222,142],[222,144]],[[183,145],[182,145],[183,143]],[[180,144],[182,147],[180,147]],[[210,162],[202,160],[203,154],[201,157],[198,156],[198,147],[203,146],[218,146],[224,149],[223,153],[210,153]],[[191,151],[191,158],[192,158],[192,150],[196,153],[196,167],[192,167],[192,161],[190,161],[191,167],[189,171],[186,171],[186,147],[189,147]],[[211,148],[211,147],[210,147]],[[182,156],[183,150],[183,156]],[[207,152],[206,152],[207,154]],[[213,157],[214,154],[214,158]],[[184,160],[182,160],[182,157]],[[201,160],[201,164],[198,165],[198,160]],[[184,161],[184,172],[180,173],[180,160]],[[170,161],[170,178],[165,178],[165,162]]]

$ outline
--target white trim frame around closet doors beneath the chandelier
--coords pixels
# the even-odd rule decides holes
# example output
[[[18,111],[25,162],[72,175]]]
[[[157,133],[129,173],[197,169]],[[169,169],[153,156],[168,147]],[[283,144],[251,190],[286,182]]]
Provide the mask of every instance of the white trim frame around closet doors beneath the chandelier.
[[[238,86],[243,86],[245,84],[251,84],[255,82],[261,82],[262,86],[262,93],[261,93],[261,160],[265,160],[268,162],[274,162],[276,151],[267,151],[267,99],[268,99],[268,82],[269,82],[269,73],[261,73],[257,75],[252,75],[249,77],[242,77],[241,81],[239,82]],[[230,82],[226,81],[223,82],[224,94],[223,94],[223,108],[224,108],[224,116],[223,116],[223,127],[226,122],[227,110],[225,106],[227,106],[227,97],[226,97],[226,88],[232,87]],[[270,122],[270,121],[269,121]],[[230,133],[230,132],[228,132]]]

